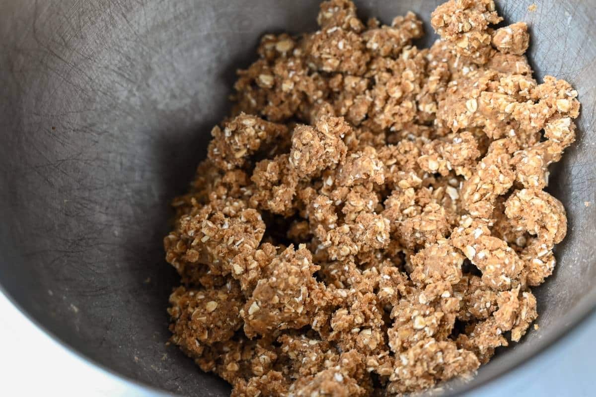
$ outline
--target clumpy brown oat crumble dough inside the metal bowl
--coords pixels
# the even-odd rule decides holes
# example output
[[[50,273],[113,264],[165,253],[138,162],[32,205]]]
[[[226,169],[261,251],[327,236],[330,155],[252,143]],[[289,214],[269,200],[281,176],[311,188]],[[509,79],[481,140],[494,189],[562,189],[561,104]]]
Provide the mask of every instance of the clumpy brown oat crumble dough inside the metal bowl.
[[[532,77],[525,23],[451,0],[431,23],[321,4],[238,71],[166,259],[172,343],[232,396],[393,396],[470,376],[538,316],[566,234],[545,192],[578,92]]]

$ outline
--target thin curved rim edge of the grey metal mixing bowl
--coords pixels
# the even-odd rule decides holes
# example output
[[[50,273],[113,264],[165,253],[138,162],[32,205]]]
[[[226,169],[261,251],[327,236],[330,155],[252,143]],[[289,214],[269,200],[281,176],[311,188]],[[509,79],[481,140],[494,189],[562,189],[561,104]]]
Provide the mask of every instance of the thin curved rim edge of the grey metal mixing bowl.
[[[114,379],[114,382],[120,382],[124,385],[134,387],[137,389],[138,392],[142,392],[142,395],[145,396],[179,396],[178,394],[168,392],[164,389],[159,389],[155,386],[148,385],[145,382],[140,380],[136,380],[132,377],[126,376],[125,374],[119,373],[104,364],[94,360],[91,357],[83,354],[82,352],[77,351],[73,346],[71,346],[66,340],[61,339],[61,337],[55,335],[54,333],[50,332],[46,327],[41,324],[36,318],[33,318],[29,312],[25,311],[23,307],[13,298],[13,296],[8,293],[8,291],[2,286],[2,282],[0,281],[0,293],[4,295],[8,301],[15,307],[17,310],[24,315],[33,326],[37,327],[38,330],[45,333],[45,335],[49,336],[54,342],[56,342],[65,352],[75,356],[80,361],[91,367],[95,371],[100,371],[106,374],[107,376]],[[583,297],[581,301],[578,302],[575,308],[572,311],[567,312],[565,317],[563,317],[563,321],[559,321],[557,326],[555,326],[547,335],[541,337],[538,342],[535,344],[535,348],[524,352],[523,354],[518,354],[514,358],[511,359],[510,365],[502,366],[500,368],[496,368],[496,370],[488,371],[485,373],[479,373],[474,376],[469,382],[463,382],[457,387],[449,387],[443,389],[444,396],[457,396],[462,395],[465,393],[469,393],[472,390],[480,389],[482,386],[489,385],[490,383],[495,382],[497,379],[505,376],[513,372],[513,370],[529,365],[531,362],[535,361],[538,357],[545,354],[546,352],[550,351],[554,346],[560,345],[564,339],[570,336],[573,330],[579,328],[585,320],[590,317],[592,314],[596,315],[596,290],[592,290],[587,295]],[[523,343],[523,342],[522,342]],[[439,384],[440,386],[440,384]],[[428,393],[426,393],[428,394]]]

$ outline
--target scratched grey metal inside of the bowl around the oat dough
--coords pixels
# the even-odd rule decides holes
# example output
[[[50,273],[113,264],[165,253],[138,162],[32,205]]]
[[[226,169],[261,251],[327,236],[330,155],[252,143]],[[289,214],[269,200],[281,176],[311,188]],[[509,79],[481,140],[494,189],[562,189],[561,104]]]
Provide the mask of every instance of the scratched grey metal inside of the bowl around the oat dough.
[[[0,284],[16,304],[114,373],[226,395],[164,346],[177,279],[163,261],[166,203],[204,157],[234,70],[254,58],[258,37],[314,29],[317,3],[0,0]],[[406,10],[428,19],[438,2],[357,3],[388,22]],[[550,345],[596,302],[594,2],[498,5],[509,22],[530,24],[536,74],[572,82],[583,108],[578,142],[551,176],[570,230],[555,276],[536,289],[541,329],[457,390]]]

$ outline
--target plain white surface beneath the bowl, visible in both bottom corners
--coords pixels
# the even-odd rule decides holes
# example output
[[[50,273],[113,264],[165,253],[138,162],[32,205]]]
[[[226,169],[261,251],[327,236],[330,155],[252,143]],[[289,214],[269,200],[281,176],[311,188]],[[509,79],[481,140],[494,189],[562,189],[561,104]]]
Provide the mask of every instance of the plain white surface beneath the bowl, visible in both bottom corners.
[[[64,349],[0,293],[0,395],[136,396],[131,388]],[[590,396],[596,389],[596,315],[531,365],[471,396]],[[29,352],[29,353],[27,353]]]

